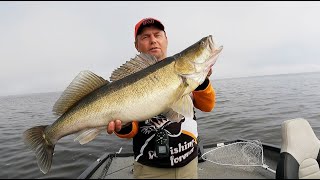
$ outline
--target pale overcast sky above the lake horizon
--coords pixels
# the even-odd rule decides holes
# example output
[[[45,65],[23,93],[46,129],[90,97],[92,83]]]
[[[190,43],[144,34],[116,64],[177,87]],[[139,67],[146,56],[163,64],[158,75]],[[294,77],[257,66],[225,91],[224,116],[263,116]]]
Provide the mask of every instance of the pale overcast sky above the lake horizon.
[[[163,22],[168,56],[213,35],[212,80],[320,71],[320,2],[0,2],[0,96],[63,91],[82,70],[109,80],[137,54],[134,26]]]

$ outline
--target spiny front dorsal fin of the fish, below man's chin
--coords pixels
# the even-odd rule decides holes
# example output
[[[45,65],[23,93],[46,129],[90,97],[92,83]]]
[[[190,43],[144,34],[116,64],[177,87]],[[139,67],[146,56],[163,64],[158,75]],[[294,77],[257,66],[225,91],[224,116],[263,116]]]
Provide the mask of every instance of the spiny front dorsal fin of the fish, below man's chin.
[[[141,71],[159,60],[150,54],[140,53],[111,73],[110,81],[117,81],[133,73]]]

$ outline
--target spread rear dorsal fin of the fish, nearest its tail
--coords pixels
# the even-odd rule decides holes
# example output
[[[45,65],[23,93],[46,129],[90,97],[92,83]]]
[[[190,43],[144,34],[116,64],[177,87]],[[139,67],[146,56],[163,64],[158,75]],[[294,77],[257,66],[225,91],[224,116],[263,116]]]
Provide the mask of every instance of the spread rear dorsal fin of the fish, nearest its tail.
[[[62,115],[81,98],[107,83],[109,83],[107,80],[91,71],[81,71],[64,90],[52,111],[57,115]]]

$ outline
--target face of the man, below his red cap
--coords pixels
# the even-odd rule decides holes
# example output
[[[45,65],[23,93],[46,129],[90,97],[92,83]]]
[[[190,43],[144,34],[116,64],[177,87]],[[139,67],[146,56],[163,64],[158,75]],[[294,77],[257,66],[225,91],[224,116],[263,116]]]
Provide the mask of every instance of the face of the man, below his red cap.
[[[154,55],[159,60],[167,57],[167,36],[164,31],[154,26],[143,28],[137,36],[135,46],[139,52]]]

